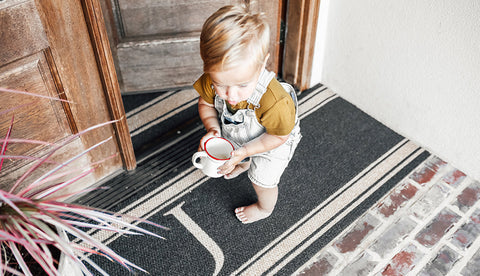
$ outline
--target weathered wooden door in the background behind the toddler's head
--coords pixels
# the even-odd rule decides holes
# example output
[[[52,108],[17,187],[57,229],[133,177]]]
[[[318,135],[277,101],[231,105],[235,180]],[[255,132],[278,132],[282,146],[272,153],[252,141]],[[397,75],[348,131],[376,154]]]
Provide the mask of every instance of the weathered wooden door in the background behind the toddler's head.
[[[122,93],[191,86],[202,74],[203,22],[240,0],[101,0]],[[253,10],[271,28],[269,70],[278,72],[282,0],[258,0]]]

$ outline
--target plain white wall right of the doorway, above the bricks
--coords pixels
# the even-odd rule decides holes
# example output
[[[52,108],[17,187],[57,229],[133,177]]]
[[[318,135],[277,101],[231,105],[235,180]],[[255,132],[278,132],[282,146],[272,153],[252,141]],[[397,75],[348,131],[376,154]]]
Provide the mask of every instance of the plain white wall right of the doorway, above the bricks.
[[[480,1],[322,0],[320,9],[312,84],[480,180]]]

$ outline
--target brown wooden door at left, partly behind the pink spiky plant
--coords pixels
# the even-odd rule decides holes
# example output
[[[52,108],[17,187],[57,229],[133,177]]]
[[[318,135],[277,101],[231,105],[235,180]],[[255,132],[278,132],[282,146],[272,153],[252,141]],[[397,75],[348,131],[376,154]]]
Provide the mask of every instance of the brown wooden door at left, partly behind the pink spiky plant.
[[[95,124],[114,119],[105,82],[97,67],[98,45],[92,44],[84,9],[92,1],[4,0],[0,1],[0,87],[68,100],[60,101],[0,92],[0,110],[22,106],[0,117],[0,135],[5,136],[14,114],[13,138],[58,142]],[[123,107],[121,103],[117,106]],[[90,185],[122,168],[118,125],[90,132],[62,151],[58,158],[75,155],[99,141],[114,139],[79,160],[88,167],[113,154],[82,185]],[[128,131],[127,131],[128,134]],[[11,144],[9,154],[38,156],[43,145]],[[122,155],[123,154],[123,155]],[[27,161],[6,161],[0,185],[6,189],[25,170]],[[79,189],[83,187],[76,187]]]

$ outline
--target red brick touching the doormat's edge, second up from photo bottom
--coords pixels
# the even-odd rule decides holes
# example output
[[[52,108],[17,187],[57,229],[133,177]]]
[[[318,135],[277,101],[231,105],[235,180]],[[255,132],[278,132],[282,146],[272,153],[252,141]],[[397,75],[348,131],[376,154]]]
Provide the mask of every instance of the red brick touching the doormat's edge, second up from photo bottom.
[[[365,216],[357,222],[353,229],[341,237],[333,245],[341,253],[354,251],[362,240],[379,224],[378,219],[373,216]]]

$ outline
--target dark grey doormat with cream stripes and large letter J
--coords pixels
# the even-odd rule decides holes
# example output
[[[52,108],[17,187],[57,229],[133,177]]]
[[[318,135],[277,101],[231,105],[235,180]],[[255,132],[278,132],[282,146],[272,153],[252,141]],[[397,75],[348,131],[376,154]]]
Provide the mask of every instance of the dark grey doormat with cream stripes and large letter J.
[[[165,240],[98,232],[150,275],[292,275],[430,154],[317,86],[299,96],[303,138],[267,219],[242,224],[234,209],[255,202],[246,174],[205,177],[191,156],[204,134],[192,124],[80,203],[170,228]],[[120,195],[116,195],[120,194]],[[110,275],[132,275],[93,258]],[[147,275],[135,271],[135,275]]]

